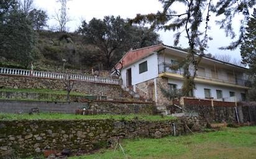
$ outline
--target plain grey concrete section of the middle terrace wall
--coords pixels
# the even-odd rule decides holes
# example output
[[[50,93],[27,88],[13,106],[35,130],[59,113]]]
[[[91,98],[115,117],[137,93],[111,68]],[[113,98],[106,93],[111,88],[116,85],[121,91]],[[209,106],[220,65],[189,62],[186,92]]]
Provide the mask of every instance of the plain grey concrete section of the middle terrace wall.
[[[32,108],[39,108],[44,113],[75,114],[76,109],[87,105],[88,103],[0,100],[0,113],[29,113]]]

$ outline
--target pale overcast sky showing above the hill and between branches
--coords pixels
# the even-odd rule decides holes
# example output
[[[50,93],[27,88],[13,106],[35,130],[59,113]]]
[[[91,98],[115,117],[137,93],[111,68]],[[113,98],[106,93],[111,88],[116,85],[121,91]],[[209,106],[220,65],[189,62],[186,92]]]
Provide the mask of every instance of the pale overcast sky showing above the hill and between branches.
[[[50,27],[57,26],[57,22],[53,19],[55,11],[60,9],[60,3],[56,0],[34,0],[35,7],[37,9],[42,9],[47,11],[50,20],[48,20],[48,25]],[[177,9],[181,9],[181,6],[174,6]],[[68,15],[71,22],[68,22],[67,27],[70,32],[73,32],[81,24],[81,19],[87,22],[93,17],[98,19],[103,19],[105,15],[121,15],[122,18],[134,18],[136,14],[149,14],[155,13],[162,10],[162,5],[158,0],[72,0],[67,2]],[[211,30],[209,30],[208,35],[213,37],[212,41],[209,41],[208,53],[211,54],[229,54],[232,58],[240,59],[239,49],[235,51],[222,51],[218,48],[221,46],[227,46],[231,43],[229,38],[225,37],[224,30],[220,30],[219,26],[215,24],[216,17],[213,15],[210,19]],[[234,29],[238,34],[239,30],[239,19],[235,20]],[[173,32],[159,31],[160,39],[165,45],[173,46]],[[181,39],[179,46],[183,48],[188,47],[188,40],[186,38]]]

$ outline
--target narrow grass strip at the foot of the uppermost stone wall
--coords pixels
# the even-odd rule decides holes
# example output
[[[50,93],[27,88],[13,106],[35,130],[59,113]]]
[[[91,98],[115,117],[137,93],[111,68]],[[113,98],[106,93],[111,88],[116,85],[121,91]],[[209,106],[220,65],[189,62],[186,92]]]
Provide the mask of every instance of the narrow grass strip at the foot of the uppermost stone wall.
[[[14,88],[2,88],[2,92],[24,92],[24,93],[48,93],[56,95],[66,95],[66,90],[48,90],[48,89],[14,89]],[[70,95],[82,95],[86,96],[85,93],[70,92]]]

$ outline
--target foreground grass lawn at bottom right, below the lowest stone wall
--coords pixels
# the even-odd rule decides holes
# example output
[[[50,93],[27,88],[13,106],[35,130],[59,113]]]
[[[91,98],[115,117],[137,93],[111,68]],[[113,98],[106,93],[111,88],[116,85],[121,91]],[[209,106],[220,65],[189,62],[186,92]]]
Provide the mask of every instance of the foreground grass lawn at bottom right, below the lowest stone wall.
[[[93,155],[68,159],[171,159],[171,158],[255,158],[256,127],[224,128],[222,131],[196,133],[162,139],[122,140],[122,151],[102,149]]]

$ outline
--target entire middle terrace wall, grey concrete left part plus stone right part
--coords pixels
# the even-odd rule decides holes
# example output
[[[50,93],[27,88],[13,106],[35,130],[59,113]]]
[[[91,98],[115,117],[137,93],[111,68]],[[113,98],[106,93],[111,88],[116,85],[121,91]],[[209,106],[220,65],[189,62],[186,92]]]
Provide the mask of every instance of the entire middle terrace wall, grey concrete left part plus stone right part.
[[[0,100],[0,113],[29,113],[39,108],[44,113],[75,114],[79,108],[88,108],[96,114],[155,114],[155,105],[146,102],[91,101],[88,103],[62,101]]]

